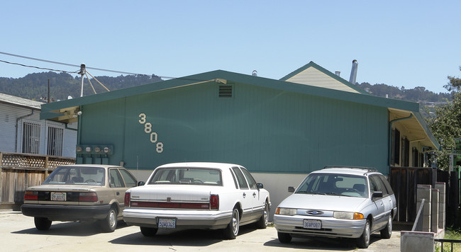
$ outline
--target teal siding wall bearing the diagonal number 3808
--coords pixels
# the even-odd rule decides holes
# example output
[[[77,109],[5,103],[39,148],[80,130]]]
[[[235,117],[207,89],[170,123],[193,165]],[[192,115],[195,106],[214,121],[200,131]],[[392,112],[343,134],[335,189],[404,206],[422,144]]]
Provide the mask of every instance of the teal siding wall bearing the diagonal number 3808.
[[[219,161],[252,172],[354,165],[387,173],[387,108],[240,83],[232,98],[219,98],[219,85],[84,105],[79,144],[113,144],[109,163],[127,168]]]

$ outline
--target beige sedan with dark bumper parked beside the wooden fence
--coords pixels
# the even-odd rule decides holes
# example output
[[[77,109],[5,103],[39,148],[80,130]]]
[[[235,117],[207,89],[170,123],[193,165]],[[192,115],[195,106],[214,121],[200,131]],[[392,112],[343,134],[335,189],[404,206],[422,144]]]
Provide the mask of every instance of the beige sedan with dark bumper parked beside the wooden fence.
[[[103,231],[111,232],[122,219],[125,191],[137,185],[121,166],[60,166],[42,185],[26,189],[21,212],[34,217],[39,230],[48,230],[52,221],[79,221],[99,222]]]

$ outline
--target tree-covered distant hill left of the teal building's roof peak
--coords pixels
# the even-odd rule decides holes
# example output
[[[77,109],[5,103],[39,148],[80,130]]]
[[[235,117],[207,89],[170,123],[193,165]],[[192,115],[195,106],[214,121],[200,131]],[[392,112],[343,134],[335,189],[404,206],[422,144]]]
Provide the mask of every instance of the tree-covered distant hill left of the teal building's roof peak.
[[[95,76],[97,80],[104,84],[110,91],[131,86],[140,86],[162,81],[160,77],[146,75],[127,75],[127,76]],[[22,78],[0,77],[0,92],[12,96],[20,96],[35,101],[48,100],[48,79],[50,79],[50,97],[52,101],[67,100],[68,96],[79,97],[81,92],[82,79],[80,76],[73,77],[66,73],[55,73],[53,71],[28,74]],[[107,92],[95,79],[90,79],[96,93]],[[87,79],[84,79],[84,96],[94,94]]]

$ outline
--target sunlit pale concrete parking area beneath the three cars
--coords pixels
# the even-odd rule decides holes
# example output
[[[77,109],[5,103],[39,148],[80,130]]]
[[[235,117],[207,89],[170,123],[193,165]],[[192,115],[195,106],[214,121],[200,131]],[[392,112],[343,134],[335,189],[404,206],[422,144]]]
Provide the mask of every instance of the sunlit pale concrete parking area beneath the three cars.
[[[189,230],[159,231],[154,237],[145,237],[138,227],[122,225],[113,233],[101,233],[91,224],[53,222],[50,230],[38,231],[33,217],[21,212],[0,212],[1,251],[400,251],[400,232],[391,239],[372,236],[367,249],[358,249],[355,243],[344,239],[299,239],[291,244],[280,244],[274,227],[255,229],[241,227],[235,240],[223,240],[221,231]]]

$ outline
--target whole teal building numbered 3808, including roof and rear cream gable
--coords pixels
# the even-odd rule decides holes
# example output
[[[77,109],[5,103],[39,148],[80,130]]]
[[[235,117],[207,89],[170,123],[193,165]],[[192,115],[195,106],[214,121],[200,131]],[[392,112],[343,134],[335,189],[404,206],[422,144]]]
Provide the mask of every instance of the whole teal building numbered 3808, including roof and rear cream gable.
[[[439,145],[418,103],[372,96],[310,62],[280,80],[210,71],[42,105],[78,121],[77,163],[122,164],[147,179],[180,161],[247,167],[277,205],[328,165],[428,166]]]

